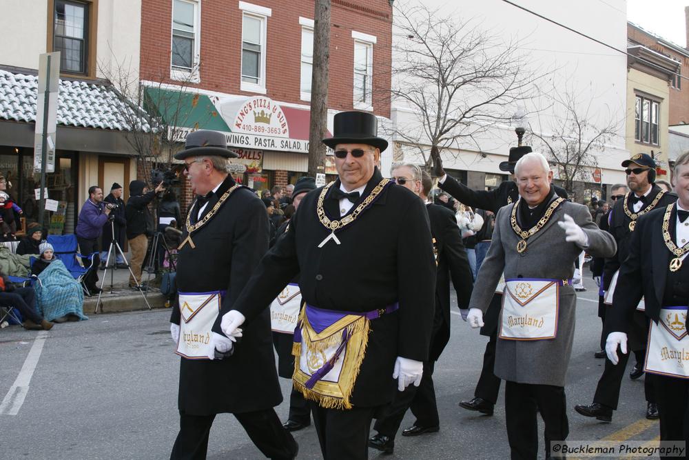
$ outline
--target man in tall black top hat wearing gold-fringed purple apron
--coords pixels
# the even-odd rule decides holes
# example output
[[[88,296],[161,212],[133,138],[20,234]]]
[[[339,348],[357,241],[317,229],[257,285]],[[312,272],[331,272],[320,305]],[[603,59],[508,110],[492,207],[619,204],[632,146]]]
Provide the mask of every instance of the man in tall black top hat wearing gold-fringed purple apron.
[[[365,459],[371,419],[395,390],[418,386],[429,357],[435,260],[424,204],[383,179],[377,120],[335,115],[339,179],[309,192],[223,317],[251,328],[299,273],[294,385],[310,399],[325,459]],[[240,343],[239,350],[244,346]]]

